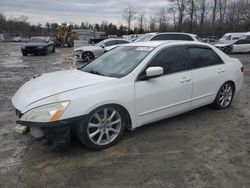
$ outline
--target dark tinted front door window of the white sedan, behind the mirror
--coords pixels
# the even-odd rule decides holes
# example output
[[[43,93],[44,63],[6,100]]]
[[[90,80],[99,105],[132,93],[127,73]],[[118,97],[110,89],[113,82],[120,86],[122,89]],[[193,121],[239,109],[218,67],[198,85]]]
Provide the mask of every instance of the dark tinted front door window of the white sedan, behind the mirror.
[[[166,48],[154,57],[148,67],[162,67],[164,74],[186,70],[184,53],[184,47],[181,46]]]

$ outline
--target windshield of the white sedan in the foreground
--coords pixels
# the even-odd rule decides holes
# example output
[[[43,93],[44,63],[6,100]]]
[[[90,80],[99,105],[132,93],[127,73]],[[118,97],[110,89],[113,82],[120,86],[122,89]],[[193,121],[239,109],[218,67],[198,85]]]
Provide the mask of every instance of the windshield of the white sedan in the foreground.
[[[152,47],[123,46],[95,59],[81,70],[92,74],[121,78],[129,74],[153,50]]]

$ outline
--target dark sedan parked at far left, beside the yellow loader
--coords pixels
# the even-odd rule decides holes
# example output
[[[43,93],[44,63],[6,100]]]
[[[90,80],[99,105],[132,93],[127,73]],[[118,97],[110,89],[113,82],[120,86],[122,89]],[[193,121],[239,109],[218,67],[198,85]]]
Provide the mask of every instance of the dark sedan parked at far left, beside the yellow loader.
[[[55,52],[54,42],[49,37],[32,37],[21,46],[24,56],[28,54],[47,55]]]

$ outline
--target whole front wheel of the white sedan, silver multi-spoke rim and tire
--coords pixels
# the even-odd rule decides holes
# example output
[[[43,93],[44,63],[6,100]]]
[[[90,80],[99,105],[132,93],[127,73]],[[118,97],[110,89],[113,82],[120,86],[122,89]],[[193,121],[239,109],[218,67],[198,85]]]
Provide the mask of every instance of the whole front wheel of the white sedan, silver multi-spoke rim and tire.
[[[122,111],[115,106],[100,107],[90,113],[78,126],[80,141],[91,149],[105,149],[114,145],[125,130]]]

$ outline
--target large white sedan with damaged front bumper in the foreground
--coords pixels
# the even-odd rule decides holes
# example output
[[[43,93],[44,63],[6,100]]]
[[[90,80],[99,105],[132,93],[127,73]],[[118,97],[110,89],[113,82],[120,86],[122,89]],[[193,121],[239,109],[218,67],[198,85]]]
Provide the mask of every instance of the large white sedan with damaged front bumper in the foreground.
[[[86,146],[104,149],[125,129],[204,105],[230,106],[243,66],[199,42],[155,41],[117,47],[79,70],[41,75],[12,98],[18,124],[61,147],[75,131]]]

